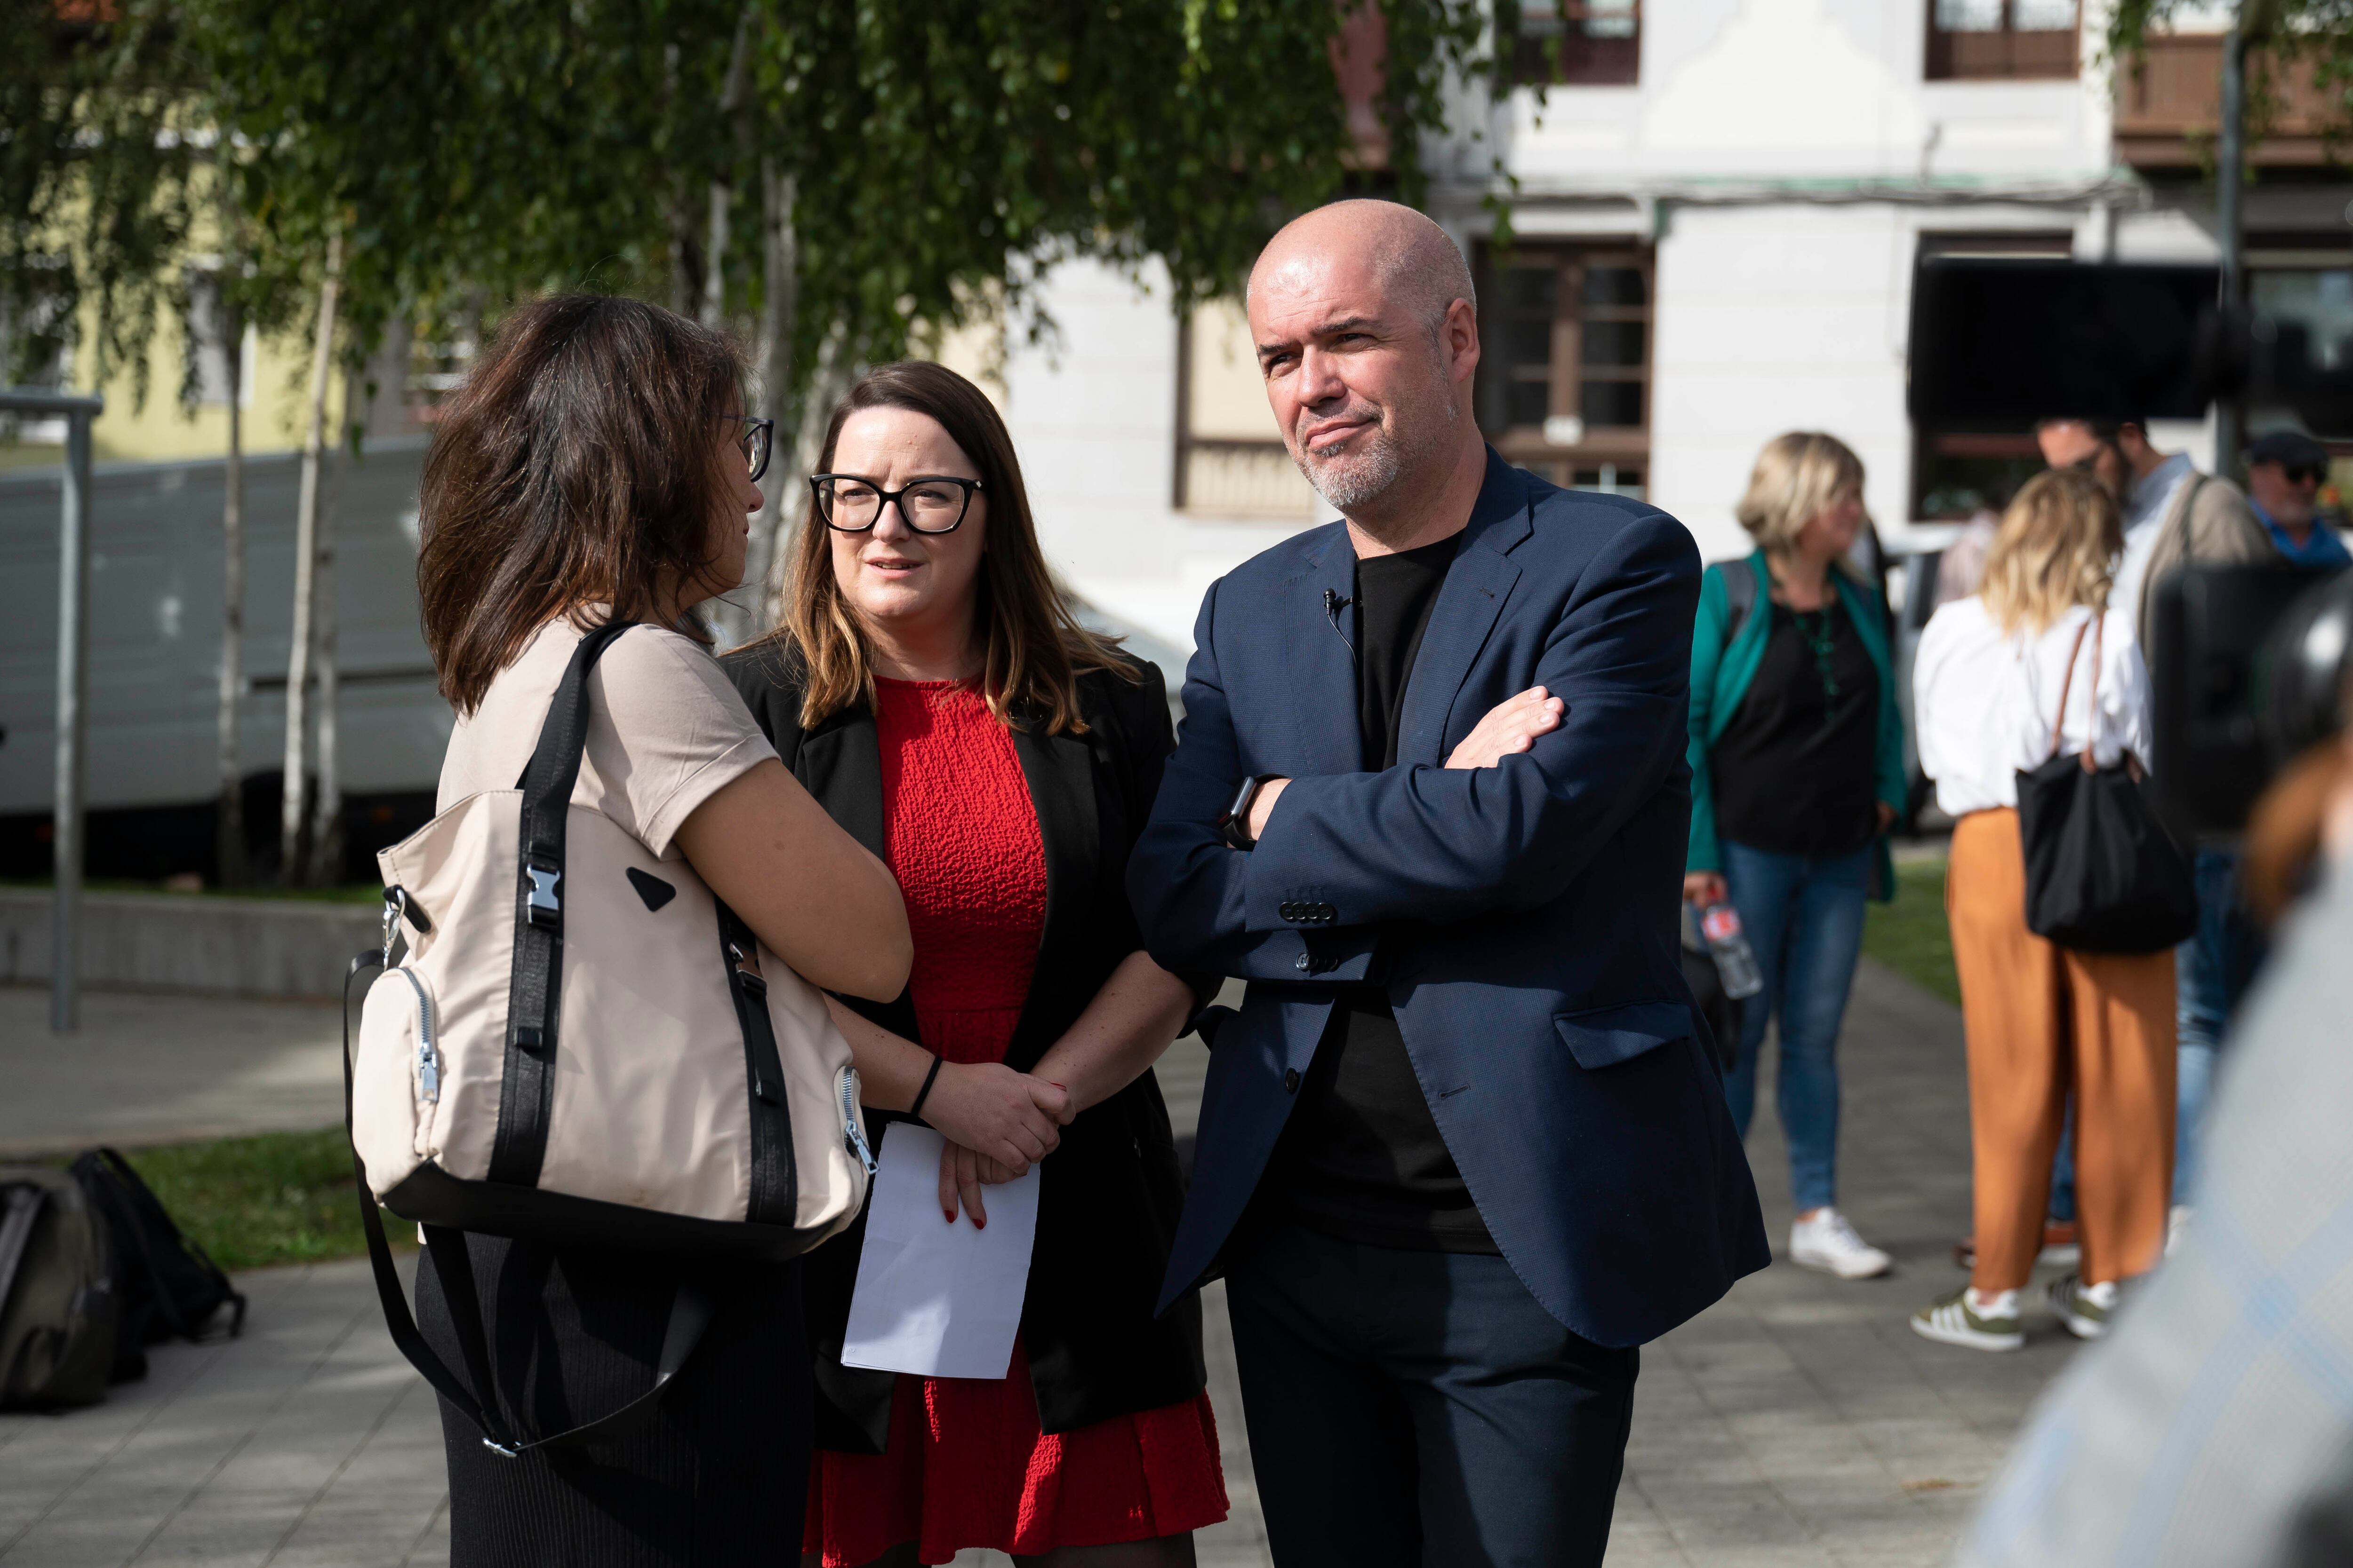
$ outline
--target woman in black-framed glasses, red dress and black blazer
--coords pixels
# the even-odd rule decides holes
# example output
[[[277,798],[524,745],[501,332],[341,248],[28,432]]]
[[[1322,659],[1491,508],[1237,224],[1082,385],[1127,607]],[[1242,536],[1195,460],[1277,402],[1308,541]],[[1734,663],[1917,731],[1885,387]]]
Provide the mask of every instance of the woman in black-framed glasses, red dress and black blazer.
[[[1005,423],[939,364],[833,411],[784,625],[727,670],[786,766],[899,877],[906,994],[835,1001],[880,1121],[948,1147],[944,1218],[1040,1166],[1000,1380],[845,1368],[864,1220],[807,1265],[826,1568],[993,1547],[1056,1568],[1193,1561],[1226,1516],[1200,1302],[1153,1316],[1184,1190],[1151,1065],[1198,997],[1122,875],[1174,748],[1160,670],[1080,628]]]

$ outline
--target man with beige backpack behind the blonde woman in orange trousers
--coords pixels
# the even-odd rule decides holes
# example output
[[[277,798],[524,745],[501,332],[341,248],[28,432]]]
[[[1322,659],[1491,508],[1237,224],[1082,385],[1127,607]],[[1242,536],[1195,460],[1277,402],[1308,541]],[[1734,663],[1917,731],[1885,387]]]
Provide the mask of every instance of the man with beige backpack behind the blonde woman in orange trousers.
[[[2045,418],[2035,444],[2052,468],[2085,468],[2125,508],[2125,559],[2108,602],[2132,611],[2148,654],[2151,583],[2184,567],[2261,567],[2280,562],[2245,491],[2231,480],[2198,473],[2186,451],[2158,451],[2148,425],[2127,418]],[[2195,1175],[2198,1117],[2214,1081],[2214,1058],[2231,1011],[2254,980],[2259,936],[2238,896],[2238,851],[2198,846],[2198,933],[2174,954],[2174,1222]]]

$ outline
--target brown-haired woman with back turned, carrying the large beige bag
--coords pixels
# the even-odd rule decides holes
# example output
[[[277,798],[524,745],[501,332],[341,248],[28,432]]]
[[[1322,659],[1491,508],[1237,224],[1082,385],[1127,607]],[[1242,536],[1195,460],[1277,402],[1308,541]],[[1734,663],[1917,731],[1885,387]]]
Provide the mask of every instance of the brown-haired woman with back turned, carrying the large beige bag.
[[[626,299],[508,313],[426,456],[416,588],[456,731],[442,806],[511,790],[581,635],[621,632],[588,675],[572,804],[682,860],[816,985],[882,1001],[913,940],[889,870],[784,771],[689,611],[744,581],[767,421],[744,418],[734,346]],[[468,1237],[416,1269],[416,1321],[449,1366],[449,1298],[473,1288],[492,1382],[555,1432],[654,1380],[678,1269],[614,1248]],[[800,1265],[706,1269],[713,1316],[647,1420],[499,1458],[442,1406],[452,1568],[786,1563],[809,1462]],[[468,1312],[471,1316],[473,1312]]]

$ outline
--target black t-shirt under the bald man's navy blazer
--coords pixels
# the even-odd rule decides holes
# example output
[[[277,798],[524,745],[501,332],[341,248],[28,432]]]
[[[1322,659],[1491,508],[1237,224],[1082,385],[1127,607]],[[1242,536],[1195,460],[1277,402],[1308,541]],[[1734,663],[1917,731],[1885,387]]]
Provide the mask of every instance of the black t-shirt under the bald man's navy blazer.
[[[1459,538],[1355,564],[1355,705],[1367,773],[1398,764],[1405,684]],[[1332,1009],[1266,1187],[1285,1218],[1346,1241],[1497,1251],[1379,985],[1348,987]]]

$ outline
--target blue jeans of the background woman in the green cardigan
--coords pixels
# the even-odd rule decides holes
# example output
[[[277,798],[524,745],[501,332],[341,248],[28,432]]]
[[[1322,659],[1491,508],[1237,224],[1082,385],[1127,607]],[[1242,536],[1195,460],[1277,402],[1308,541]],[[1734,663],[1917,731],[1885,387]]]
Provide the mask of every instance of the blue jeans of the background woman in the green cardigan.
[[[1849,856],[1777,856],[1722,844],[1725,886],[1758,954],[1765,990],[1741,1006],[1741,1051],[1725,1074],[1732,1126],[1748,1135],[1765,1023],[1781,1023],[1777,1105],[1798,1213],[1838,1201],[1838,1025],[1864,950],[1871,846]]]

